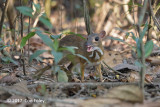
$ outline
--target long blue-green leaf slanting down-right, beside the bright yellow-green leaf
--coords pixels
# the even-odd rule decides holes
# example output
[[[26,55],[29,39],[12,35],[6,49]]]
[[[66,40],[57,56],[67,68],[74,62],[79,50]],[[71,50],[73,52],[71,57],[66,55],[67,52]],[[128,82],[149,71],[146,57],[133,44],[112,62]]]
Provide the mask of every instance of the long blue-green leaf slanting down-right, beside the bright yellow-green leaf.
[[[43,40],[43,42],[49,46],[51,49],[53,49],[53,42],[48,37],[48,35],[43,34],[41,31],[36,31],[36,34]]]

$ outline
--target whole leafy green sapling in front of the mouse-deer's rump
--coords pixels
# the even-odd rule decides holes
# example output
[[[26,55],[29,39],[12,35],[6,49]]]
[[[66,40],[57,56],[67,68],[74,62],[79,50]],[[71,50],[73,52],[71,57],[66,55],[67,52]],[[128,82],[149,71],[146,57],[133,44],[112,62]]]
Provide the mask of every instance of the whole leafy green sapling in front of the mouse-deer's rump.
[[[36,12],[33,15],[33,9],[30,7],[26,7],[26,6],[20,6],[17,7],[17,10],[19,10],[19,12],[21,12],[23,15],[25,16],[30,16],[32,19],[36,20],[37,18],[39,18],[39,20],[45,24],[46,26],[48,26],[50,29],[52,28],[52,25],[50,23],[50,21],[48,19],[46,19],[46,15],[45,13],[41,12],[41,7],[39,4],[33,4],[36,8]],[[38,15],[37,15],[38,14]],[[41,15],[40,15],[41,14]],[[35,58],[37,58],[40,54],[44,53],[44,52],[50,52],[53,56],[54,56],[54,64],[53,64],[53,71],[54,73],[58,73],[58,81],[59,82],[67,82],[68,81],[68,77],[66,75],[66,72],[64,72],[63,70],[60,69],[60,66],[58,65],[59,61],[63,58],[64,53],[63,51],[69,51],[72,55],[74,56],[78,56],[81,57],[83,59],[85,59],[87,62],[88,59],[85,58],[84,56],[80,55],[80,54],[76,54],[75,53],[75,49],[77,47],[73,47],[73,46],[65,46],[65,47],[60,47],[59,46],[59,39],[61,38],[62,34],[74,34],[76,36],[80,36],[81,38],[85,39],[83,36],[81,36],[80,34],[75,34],[73,32],[63,32],[60,35],[52,35],[49,32],[45,32],[50,34],[50,38],[48,37],[48,35],[44,34],[43,32],[41,32],[39,30],[39,28],[33,26],[32,32],[28,33],[25,37],[22,38],[22,41],[20,43],[20,48],[23,49],[23,47],[26,45],[26,42],[33,37],[35,34],[37,34],[42,40],[43,42],[50,47],[50,50],[37,50],[35,53],[33,53],[30,58],[29,58],[29,63],[31,63],[31,61]]]

